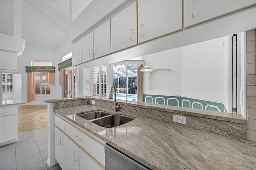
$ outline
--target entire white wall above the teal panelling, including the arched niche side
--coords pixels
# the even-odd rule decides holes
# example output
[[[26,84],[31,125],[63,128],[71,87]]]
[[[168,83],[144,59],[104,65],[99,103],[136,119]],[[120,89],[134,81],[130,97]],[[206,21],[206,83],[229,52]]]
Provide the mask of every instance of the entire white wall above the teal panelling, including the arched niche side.
[[[144,60],[149,67],[156,72],[160,68],[170,69],[172,75],[159,71],[154,76],[162,81],[154,83],[150,79],[154,71],[144,72],[143,93],[224,102],[227,106],[228,43],[229,37],[224,37],[147,55]],[[168,90],[162,88],[166,82],[169,82]],[[152,83],[155,90],[150,90]]]

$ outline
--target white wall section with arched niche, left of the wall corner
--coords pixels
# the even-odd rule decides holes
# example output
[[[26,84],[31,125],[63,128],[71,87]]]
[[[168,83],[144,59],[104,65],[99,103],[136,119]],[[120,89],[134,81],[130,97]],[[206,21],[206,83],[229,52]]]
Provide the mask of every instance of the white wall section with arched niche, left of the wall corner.
[[[154,74],[154,71],[144,72],[143,77],[143,93],[144,94],[157,94],[157,95],[181,95],[181,49],[171,49],[158,53],[153,53],[142,57],[145,60],[145,64],[151,67],[154,71],[159,73],[158,80],[160,82],[153,82],[154,79],[150,78],[150,74]],[[172,70],[171,75],[165,75],[164,70]],[[168,81],[168,80],[170,81]],[[163,90],[162,85],[170,82],[168,90]],[[154,83],[154,87],[151,84]],[[159,85],[159,87],[157,87]]]

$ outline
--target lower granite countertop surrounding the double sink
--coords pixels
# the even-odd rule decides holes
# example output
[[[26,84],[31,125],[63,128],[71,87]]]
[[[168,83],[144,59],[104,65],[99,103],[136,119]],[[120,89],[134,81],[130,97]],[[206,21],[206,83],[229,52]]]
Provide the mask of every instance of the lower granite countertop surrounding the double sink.
[[[256,169],[256,142],[133,115],[128,116],[136,119],[116,128],[74,116],[96,110],[106,109],[81,105],[54,112],[151,169]]]

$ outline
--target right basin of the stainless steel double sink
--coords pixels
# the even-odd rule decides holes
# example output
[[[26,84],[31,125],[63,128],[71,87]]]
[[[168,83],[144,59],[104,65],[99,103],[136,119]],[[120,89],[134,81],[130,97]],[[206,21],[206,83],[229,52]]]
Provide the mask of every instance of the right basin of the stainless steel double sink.
[[[117,127],[132,120],[134,120],[134,118],[124,115],[110,115],[92,121],[92,123],[95,123],[101,127]]]

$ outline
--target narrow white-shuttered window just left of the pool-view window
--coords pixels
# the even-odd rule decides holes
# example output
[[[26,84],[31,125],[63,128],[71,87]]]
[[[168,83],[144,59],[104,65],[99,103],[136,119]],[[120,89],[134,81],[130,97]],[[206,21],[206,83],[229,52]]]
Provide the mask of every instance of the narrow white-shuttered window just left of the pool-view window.
[[[93,96],[106,97],[107,67],[105,65],[93,68]]]

